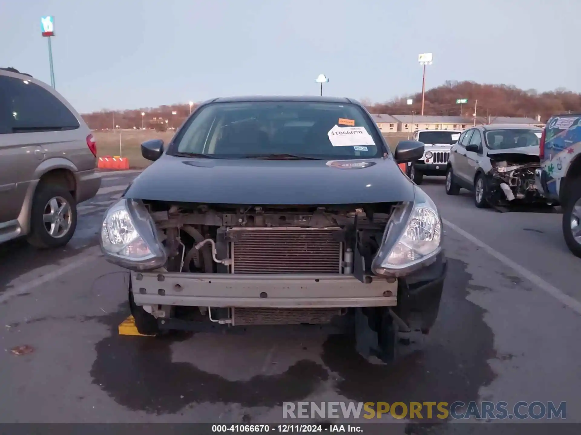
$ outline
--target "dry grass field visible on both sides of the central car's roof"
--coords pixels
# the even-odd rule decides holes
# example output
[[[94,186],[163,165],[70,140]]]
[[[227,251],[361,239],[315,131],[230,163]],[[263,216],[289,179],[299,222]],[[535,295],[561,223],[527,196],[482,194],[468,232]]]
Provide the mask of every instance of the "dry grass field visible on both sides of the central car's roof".
[[[151,164],[149,160],[141,157],[141,145],[149,139],[163,139],[164,143],[168,143],[173,137],[174,132],[156,132],[154,130],[117,130],[112,131],[95,131],[93,132],[97,142],[97,157],[105,157],[106,155],[127,157],[129,165],[132,169],[146,168]],[[121,136],[121,153],[119,147],[119,138]],[[383,135],[388,141],[389,147],[393,151],[400,140],[407,139],[407,133],[385,133]]]

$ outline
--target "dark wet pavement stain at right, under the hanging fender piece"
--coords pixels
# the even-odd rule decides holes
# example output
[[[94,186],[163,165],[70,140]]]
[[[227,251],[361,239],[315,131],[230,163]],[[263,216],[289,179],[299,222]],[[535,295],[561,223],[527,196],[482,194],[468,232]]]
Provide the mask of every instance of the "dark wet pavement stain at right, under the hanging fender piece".
[[[485,310],[466,299],[472,278],[466,272],[467,264],[448,261],[439,315],[423,350],[391,365],[376,365],[356,353],[349,337],[329,336],[322,360],[341,378],[336,383],[338,393],[361,402],[478,399],[479,388],[495,377],[487,363],[496,357],[493,333],[483,321]],[[422,415],[428,420],[425,408]]]

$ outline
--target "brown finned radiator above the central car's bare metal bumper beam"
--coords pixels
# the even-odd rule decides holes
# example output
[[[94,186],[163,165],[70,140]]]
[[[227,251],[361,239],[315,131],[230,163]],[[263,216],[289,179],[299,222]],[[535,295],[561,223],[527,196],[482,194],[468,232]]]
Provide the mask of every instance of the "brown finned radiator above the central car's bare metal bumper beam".
[[[333,229],[231,229],[232,273],[340,273]]]

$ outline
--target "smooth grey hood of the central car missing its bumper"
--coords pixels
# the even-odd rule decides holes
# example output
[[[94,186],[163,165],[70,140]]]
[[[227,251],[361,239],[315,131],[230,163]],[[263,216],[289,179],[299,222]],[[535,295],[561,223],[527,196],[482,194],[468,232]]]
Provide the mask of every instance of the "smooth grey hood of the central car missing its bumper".
[[[124,196],[210,204],[364,204],[413,201],[414,187],[389,158],[222,160],[164,154]]]

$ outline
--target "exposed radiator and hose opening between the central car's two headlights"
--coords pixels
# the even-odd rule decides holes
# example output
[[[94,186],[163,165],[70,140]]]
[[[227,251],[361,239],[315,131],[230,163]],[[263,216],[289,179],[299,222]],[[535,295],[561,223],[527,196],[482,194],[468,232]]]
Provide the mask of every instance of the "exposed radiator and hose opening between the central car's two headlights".
[[[363,280],[397,204],[147,206],[167,271],[352,274],[357,256],[367,269],[358,270]]]

